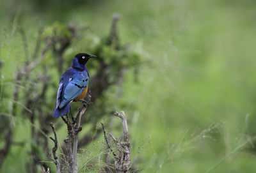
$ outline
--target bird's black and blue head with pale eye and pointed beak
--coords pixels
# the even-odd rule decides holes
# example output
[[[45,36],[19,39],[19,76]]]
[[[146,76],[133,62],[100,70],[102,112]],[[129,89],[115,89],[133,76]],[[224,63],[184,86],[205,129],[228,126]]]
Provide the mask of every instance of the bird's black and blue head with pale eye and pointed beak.
[[[86,53],[76,54],[76,56],[73,59],[72,67],[79,68],[79,69],[83,70],[83,68],[85,67],[88,60],[92,57],[97,57],[97,56],[93,56],[93,55],[86,54]]]

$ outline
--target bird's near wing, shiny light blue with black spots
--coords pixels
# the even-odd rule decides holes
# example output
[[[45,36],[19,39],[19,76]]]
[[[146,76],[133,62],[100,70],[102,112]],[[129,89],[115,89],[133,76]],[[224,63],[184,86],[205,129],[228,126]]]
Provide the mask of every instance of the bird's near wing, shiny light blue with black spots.
[[[77,96],[79,96],[88,86],[88,82],[87,73],[74,75],[72,78],[70,78],[67,87],[65,87],[63,100],[60,103],[60,108],[77,98]]]

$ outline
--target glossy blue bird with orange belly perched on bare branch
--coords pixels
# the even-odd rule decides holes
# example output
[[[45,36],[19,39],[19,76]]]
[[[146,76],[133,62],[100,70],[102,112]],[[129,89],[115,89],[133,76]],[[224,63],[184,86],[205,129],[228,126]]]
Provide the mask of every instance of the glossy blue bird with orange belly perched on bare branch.
[[[76,54],[73,58],[72,66],[61,75],[53,117],[67,116],[70,110],[70,103],[81,101],[85,98],[89,84],[86,63],[92,57],[97,56],[86,53]]]

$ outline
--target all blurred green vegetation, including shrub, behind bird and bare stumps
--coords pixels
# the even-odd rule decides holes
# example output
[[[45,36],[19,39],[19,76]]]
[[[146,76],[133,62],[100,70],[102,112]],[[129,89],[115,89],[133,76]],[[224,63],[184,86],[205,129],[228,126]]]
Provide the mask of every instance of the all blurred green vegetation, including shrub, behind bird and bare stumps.
[[[100,123],[118,136],[113,110],[127,116],[131,172],[254,172],[255,7],[250,0],[1,1],[0,162],[8,137],[12,145],[0,172],[31,172],[35,161],[37,172],[41,164],[55,169],[44,150],[54,145],[47,123],[61,146],[67,129],[51,114],[76,52],[99,56],[88,69],[100,79],[90,83],[79,172],[111,170]],[[118,39],[109,42],[115,12]],[[38,65],[26,71],[31,62]]]

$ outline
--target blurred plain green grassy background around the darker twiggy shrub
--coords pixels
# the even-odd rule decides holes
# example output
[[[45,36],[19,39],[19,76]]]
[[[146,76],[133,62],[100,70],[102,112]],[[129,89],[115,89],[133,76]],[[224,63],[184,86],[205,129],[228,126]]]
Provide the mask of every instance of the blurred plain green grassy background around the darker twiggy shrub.
[[[24,28],[33,47],[40,25],[72,21],[104,36],[118,13],[120,40],[140,55],[141,65],[138,82],[132,68],[127,70],[122,97],[109,94],[109,100],[127,115],[136,171],[255,172],[255,9],[252,0],[1,0],[1,88],[6,94],[1,104],[8,109],[13,92],[8,88],[23,58],[14,23]],[[73,55],[65,54],[70,62]],[[58,83],[59,73],[51,73]],[[54,98],[49,97],[52,103]],[[28,126],[16,123],[17,141],[29,140]],[[58,135],[62,141],[65,128]],[[97,157],[100,152],[92,146],[84,149]],[[12,147],[1,172],[26,172],[28,150],[26,144]],[[84,165],[83,156],[80,162]]]

